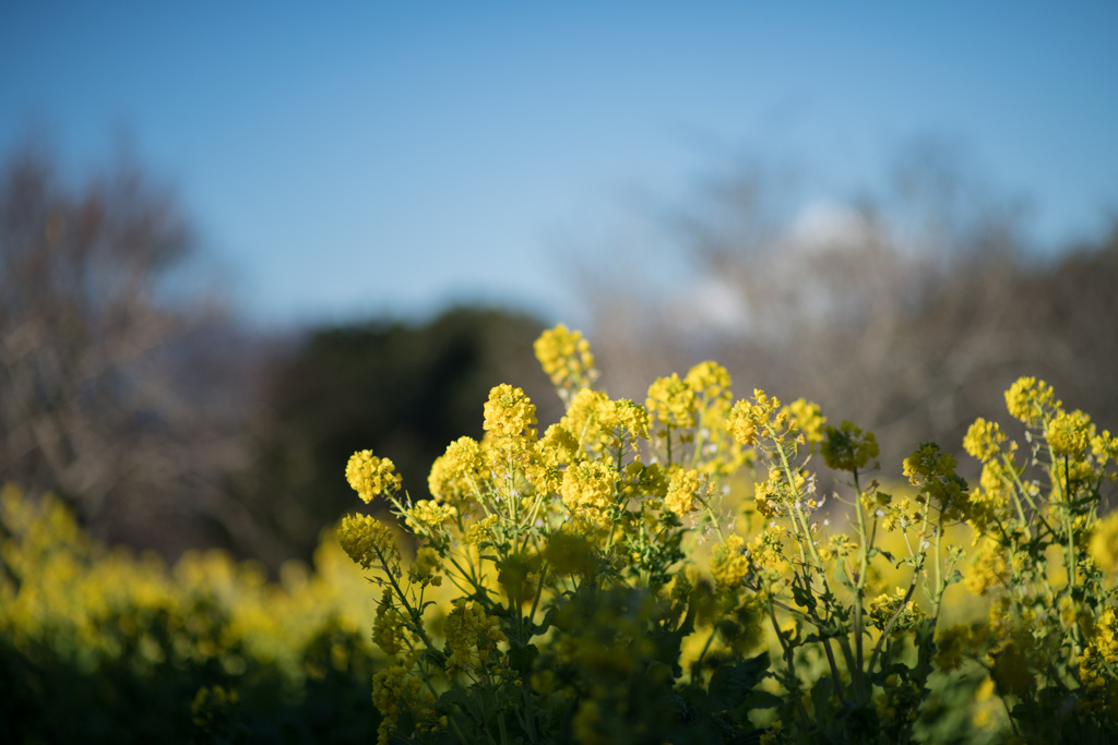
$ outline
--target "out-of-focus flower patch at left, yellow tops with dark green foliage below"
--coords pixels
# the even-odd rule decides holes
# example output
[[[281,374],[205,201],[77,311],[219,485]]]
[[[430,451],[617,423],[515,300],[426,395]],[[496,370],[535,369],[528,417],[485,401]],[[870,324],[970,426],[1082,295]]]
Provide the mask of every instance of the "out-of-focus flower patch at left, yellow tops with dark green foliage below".
[[[285,586],[219,553],[168,570],[0,495],[0,742],[368,742],[375,658],[338,548]],[[364,612],[368,612],[367,610]]]

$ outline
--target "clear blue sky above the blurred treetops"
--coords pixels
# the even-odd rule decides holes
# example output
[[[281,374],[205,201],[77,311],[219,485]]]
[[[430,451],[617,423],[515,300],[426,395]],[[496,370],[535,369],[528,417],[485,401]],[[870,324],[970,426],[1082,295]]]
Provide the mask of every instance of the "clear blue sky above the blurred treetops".
[[[842,190],[946,133],[1046,240],[1118,207],[1116,2],[9,1],[0,70],[0,147],[126,128],[268,323],[577,317],[555,237],[739,147]]]

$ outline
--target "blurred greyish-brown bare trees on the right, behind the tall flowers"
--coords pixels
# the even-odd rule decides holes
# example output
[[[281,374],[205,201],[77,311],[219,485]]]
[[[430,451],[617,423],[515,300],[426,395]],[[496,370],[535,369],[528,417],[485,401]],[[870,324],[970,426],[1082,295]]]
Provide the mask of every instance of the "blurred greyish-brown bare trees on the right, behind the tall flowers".
[[[874,429],[893,475],[929,439],[968,460],[966,428],[1003,418],[1020,375],[1118,424],[1114,236],[1042,260],[1020,201],[983,188],[941,142],[903,153],[887,193],[814,210],[752,165],[661,222],[666,249],[639,260],[680,267],[672,283],[655,285],[647,266],[618,284],[585,273],[612,392],[639,399],[656,375],[716,359],[739,395],[805,397]]]

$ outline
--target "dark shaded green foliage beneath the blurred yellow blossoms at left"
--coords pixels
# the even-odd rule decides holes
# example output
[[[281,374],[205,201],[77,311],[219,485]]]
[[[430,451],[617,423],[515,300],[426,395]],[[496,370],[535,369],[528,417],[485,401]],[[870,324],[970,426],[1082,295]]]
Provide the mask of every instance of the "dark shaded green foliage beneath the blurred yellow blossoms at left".
[[[163,614],[165,617],[165,613]],[[104,628],[120,619],[105,619]],[[121,634],[116,657],[80,659],[37,643],[18,649],[0,637],[0,743],[369,743],[380,715],[369,704],[369,644],[328,624],[303,652],[305,679],[240,657],[231,675],[218,658],[177,656],[167,618],[145,630],[163,661],[152,663]],[[220,631],[220,628],[214,629]],[[339,662],[343,662],[339,665]],[[343,669],[339,669],[342,667]],[[196,710],[202,687],[236,691],[237,703]],[[199,726],[197,715],[208,722]]]

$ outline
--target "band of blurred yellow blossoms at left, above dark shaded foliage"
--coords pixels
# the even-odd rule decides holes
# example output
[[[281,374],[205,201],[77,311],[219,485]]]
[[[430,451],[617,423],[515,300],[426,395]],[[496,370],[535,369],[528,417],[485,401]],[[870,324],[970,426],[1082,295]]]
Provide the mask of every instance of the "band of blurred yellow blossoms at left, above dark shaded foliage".
[[[83,665],[130,655],[140,676],[275,665],[301,685],[321,675],[305,657],[313,640],[333,628],[363,649],[360,629],[376,608],[361,571],[326,536],[313,573],[290,562],[280,582],[221,551],[190,551],[169,566],[92,541],[61,502],[10,485],[0,488],[0,637],[23,655],[78,655]],[[328,646],[325,663],[341,670],[350,651],[338,647]]]

